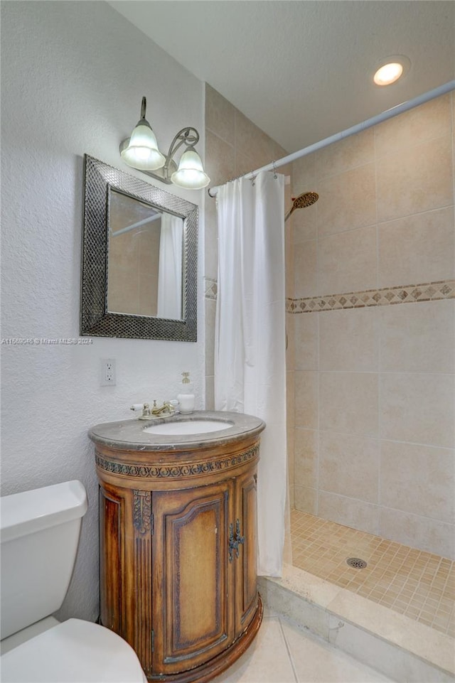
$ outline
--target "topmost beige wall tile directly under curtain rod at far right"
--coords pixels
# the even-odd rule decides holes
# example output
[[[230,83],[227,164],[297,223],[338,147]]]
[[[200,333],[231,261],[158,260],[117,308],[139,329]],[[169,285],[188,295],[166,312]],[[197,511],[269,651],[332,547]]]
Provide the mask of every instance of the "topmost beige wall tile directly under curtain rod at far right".
[[[414,107],[373,128],[376,156],[395,154],[418,142],[451,132],[450,94]]]

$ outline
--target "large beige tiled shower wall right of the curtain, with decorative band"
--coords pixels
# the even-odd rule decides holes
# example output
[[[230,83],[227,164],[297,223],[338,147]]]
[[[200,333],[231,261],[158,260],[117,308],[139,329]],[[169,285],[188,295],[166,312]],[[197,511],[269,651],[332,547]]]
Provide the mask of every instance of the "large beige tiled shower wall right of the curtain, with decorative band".
[[[448,557],[454,125],[452,92],[294,162],[287,263],[295,506]]]

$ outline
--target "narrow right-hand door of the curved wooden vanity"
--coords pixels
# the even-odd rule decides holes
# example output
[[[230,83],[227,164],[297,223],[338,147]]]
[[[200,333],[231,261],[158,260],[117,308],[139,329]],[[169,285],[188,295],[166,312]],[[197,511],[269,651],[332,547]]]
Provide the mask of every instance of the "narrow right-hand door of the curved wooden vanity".
[[[236,480],[236,520],[239,556],[235,565],[235,633],[240,635],[257,609],[257,474],[250,469]],[[238,520],[238,525],[237,525]],[[237,529],[235,533],[237,534]]]

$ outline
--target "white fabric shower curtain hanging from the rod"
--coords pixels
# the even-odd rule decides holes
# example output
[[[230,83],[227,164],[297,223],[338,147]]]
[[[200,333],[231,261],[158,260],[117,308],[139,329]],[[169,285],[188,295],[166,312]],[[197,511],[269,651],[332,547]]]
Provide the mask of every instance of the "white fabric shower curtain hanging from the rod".
[[[284,176],[238,178],[217,193],[215,408],[256,415],[258,573],[280,576],[287,488]]]

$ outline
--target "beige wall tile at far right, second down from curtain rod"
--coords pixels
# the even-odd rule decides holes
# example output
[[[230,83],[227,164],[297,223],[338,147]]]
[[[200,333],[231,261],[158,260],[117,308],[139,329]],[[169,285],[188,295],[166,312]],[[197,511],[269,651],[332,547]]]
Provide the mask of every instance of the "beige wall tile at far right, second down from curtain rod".
[[[451,137],[444,135],[378,159],[378,221],[451,205],[451,157]]]

